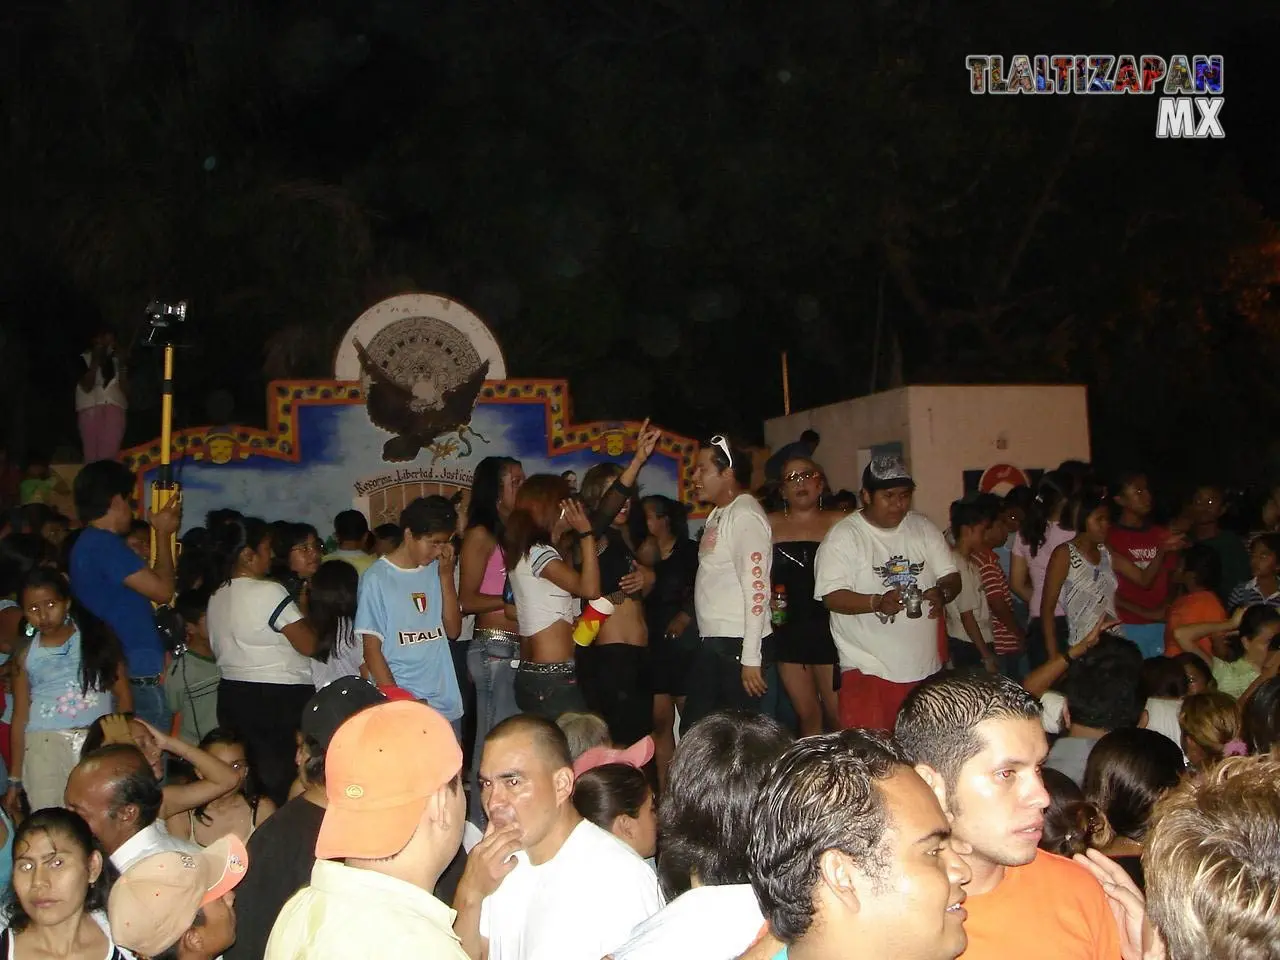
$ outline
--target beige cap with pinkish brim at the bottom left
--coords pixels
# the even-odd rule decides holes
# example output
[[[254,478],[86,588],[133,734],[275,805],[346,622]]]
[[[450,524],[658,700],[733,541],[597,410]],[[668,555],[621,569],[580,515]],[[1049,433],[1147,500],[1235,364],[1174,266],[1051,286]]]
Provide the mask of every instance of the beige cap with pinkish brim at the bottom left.
[[[247,869],[248,854],[234,833],[198,854],[169,850],[138,860],[111,887],[111,937],[143,956],[161,954],[195,923],[200,908],[230,892]]]

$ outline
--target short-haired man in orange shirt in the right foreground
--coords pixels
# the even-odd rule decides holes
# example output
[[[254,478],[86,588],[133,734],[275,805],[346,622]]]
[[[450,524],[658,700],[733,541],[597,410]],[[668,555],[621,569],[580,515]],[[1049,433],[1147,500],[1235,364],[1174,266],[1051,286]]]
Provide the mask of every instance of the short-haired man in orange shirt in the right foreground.
[[[1120,960],[1102,887],[1037,846],[1048,806],[1039,712],[1014,681],[975,672],[925,680],[897,716],[899,742],[938,797],[972,873],[963,960]]]

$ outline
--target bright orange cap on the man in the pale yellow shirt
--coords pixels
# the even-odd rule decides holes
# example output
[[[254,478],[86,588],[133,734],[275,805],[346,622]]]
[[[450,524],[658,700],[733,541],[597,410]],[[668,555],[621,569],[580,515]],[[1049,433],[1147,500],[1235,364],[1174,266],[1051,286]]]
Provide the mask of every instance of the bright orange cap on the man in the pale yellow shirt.
[[[355,714],[325,751],[329,806],[316,858],[376,860],[399,852],[426,801],[461,769],[453,727],[426,704],[397,700]]]

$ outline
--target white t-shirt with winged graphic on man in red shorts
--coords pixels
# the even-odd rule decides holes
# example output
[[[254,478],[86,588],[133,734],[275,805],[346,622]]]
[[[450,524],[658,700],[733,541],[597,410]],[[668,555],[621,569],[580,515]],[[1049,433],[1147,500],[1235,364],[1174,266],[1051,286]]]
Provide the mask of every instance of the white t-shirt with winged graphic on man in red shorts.
[[[856,594],[900,591],[915,584],[920,590],[956,572],[951,548],[942,531],[920,513],[908,513],[893,530],[882,530],[861,513],[841,520],[831,529],[814,572],[814,596],[822,599],[836,590]],[[929,620],[929,604],[919,620],[900,611],[892,622],[881,622],[874,613],[831,614],[831,634],[836,640],[841,669],[856,669],[895,684],[913,684],[936,673],[938,622]]]

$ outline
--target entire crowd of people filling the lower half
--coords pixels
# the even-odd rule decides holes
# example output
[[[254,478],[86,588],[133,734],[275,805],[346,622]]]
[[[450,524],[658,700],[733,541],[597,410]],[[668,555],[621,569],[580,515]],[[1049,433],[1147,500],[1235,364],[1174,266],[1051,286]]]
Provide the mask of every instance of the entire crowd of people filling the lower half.
[[[12,957],[1271,956],[1280,508],[475,468],[370,530],[114,460],[0,536]],[[573,481],[577,477],[572,477]]]

